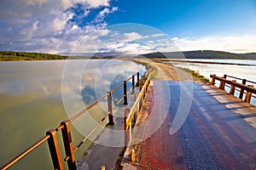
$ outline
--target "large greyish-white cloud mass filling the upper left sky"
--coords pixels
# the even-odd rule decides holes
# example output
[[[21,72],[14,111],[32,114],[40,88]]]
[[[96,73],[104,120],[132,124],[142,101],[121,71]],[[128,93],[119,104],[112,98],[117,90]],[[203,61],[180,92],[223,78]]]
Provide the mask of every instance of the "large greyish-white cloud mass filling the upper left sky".
[[[115,12],[118,8],[109,7],[109,0],[9,0],[0,2],[0,50],[25,50],[38,52],[67,52],[88,35],[88,42],[96,36],[106,36],[108,30],[103,20],[97,24],[79,27],[78,23],[69,22],[74,11],[67,8],[82,5],[86,18],[93,8],[106,8],[101,13]],[[107,10],[108,8],[108,10]],[[99,30],[99,31],[96,31]],[[87,42],[87,43],[88,43]]]

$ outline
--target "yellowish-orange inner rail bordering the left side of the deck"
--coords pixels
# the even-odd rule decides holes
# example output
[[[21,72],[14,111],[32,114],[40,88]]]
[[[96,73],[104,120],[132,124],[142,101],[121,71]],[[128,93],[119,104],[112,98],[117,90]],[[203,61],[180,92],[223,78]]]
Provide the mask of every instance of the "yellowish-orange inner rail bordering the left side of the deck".
[[[128,115],[124,116],[124,132],[125,132],[125,146],[128,145],[129,139],[131,139],[131,132],[132,132],[132,124],[135,125],[137,121],[137,113],[140,111],[141,106],[143,104],[143,99],[148,92],[148,85],[150,82],[151,73],[149,73],[148,77],[143,84],[143,88],[141,89],[140,94],[138,94],[135,103],[132,105],[131,110],[125,110],[125,114]]]

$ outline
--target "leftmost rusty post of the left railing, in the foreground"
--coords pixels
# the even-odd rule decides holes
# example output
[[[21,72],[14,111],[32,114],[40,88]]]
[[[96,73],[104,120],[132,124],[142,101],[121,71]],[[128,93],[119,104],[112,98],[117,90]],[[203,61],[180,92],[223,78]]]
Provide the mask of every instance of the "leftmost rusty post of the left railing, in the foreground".
[[[48,145],[49,145],[49,152],[51,156],[51,161],[53,163],[53,166],[55,169],[62,170],[64,169],[63,167],[63,162],[61,160],[61,151],[56,135],[56,131],[53,129],[50,129],[46,135],[49,135]]]

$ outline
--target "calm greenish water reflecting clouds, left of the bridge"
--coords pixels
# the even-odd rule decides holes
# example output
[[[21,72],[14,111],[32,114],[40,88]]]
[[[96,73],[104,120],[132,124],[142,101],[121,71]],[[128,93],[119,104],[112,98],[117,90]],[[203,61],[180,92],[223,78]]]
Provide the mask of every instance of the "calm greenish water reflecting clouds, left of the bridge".
[[[145,67],[128,60],[0,62],[0,167],[137,71],[143,76]],[[117,98],[113,96],[114,101]],[[85,134],[92,128],[86,120],[94,117],[97,122],[104,107],[102,104],[93,116],[84,117]],[[72,136],[75,146],[84,134],[72,127]],[[76,152],[77,158],[89,144]],[[52,168],[45,142],[10,169]]]

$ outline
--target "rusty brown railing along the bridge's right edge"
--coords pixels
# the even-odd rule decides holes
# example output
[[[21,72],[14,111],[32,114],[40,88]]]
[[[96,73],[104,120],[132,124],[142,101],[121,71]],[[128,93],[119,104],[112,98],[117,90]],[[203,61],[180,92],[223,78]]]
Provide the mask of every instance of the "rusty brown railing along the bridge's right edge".
[[[224,87],[229,87],[230,94],[232,94],[232,95],[235,94],[235,91],[240,92],[239,99],[243,99],[243,94],[246,94],[244,100],[247,103],[251,102],[252,97],[256,98],[256,96],[253,95],[253,94],[256,94],[256,88],[253,88],[254,87],[253,85],[246,84],[247,82],[256,84],[256,82],[249,81],[246,79],[241,79],[238,77],[232,77],[232,76],[228,76],[228,75],[224,75],[224,77],[217,77],[216,75],[211,75],[210,77],[212,78],[212,85],[215,85],[215,80],[218,80],[220,82],[218,88],[224,90]],[[227,77],[235,78],[236,80],[241,80],[241,83],[236,82],[236,80],[228,80]],[[229,84],[229,85],[227,85],[227,84]],[[237,89],[237,88],[239,88],[239,89]]]

